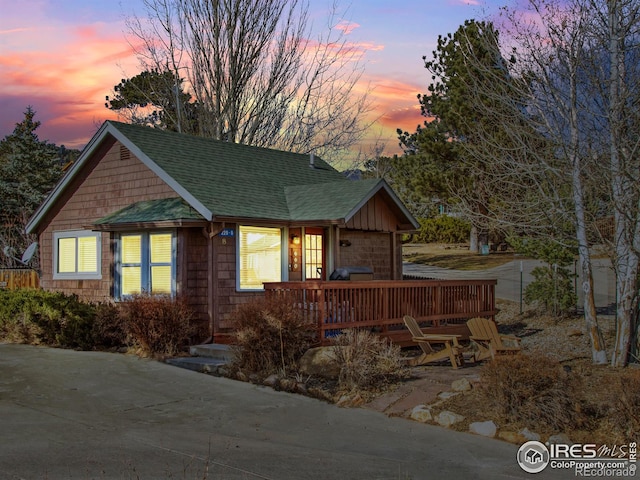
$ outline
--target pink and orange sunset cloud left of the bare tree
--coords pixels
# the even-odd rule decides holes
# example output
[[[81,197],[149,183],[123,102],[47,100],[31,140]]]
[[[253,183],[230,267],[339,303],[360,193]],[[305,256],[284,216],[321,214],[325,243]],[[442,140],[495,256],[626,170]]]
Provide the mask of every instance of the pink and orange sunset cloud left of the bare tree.
[[[119,21],[82,27],[39,22],[2,30],[8,40],[0,53],[0,138],[32,106],[42,123],[37,132],[42,140],[81,148],[97,125],[116,118],[104,106],[105,95],[123,76],[137,73],[137,60]]]

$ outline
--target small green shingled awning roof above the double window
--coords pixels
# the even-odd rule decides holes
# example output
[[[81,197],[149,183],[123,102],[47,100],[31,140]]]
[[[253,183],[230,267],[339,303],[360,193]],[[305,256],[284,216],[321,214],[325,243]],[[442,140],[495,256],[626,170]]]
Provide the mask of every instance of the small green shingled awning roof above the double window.
[[[182,198],[164,198],[136,202],[94,223],[96,225],[117,225],[177,220],[203,220],[203,218]]]

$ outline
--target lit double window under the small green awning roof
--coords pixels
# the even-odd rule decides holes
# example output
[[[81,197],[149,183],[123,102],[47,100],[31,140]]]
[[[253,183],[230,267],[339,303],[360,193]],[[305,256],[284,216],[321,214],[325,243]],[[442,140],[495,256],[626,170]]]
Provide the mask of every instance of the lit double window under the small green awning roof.
[[[123,233],[116,255],[116,292],[175,295],[176,236],[173,232]]]

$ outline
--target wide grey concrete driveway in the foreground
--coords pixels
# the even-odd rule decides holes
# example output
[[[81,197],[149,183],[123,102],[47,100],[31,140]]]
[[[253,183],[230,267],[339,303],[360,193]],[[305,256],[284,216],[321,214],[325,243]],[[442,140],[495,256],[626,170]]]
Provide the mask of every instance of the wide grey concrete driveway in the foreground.
[[[120,354],[0,345],[0,419],[0,479],[531,478],[508,443]]]

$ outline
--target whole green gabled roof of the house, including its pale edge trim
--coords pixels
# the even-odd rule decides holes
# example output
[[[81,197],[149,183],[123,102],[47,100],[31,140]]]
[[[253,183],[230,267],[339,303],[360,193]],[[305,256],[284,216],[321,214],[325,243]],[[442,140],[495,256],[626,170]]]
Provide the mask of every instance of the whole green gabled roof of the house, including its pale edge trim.
[[[406,217],[403,223],[418,226],[384,180],[348,180],[318,157],[311,164],[310,157],[303,154],[107,121],[30,219],[27,231],[37,228],[92,154],[112,138],[204,220],[347,221],[368,199],[384,190]],[[127,207],[116,212],[118,218],[100,221],[130,219],[134,212],[140,213],[140,207]],[[143,217],[152,215],[158,220],[162,216],[160,207],[167,205],[147,205]]]

